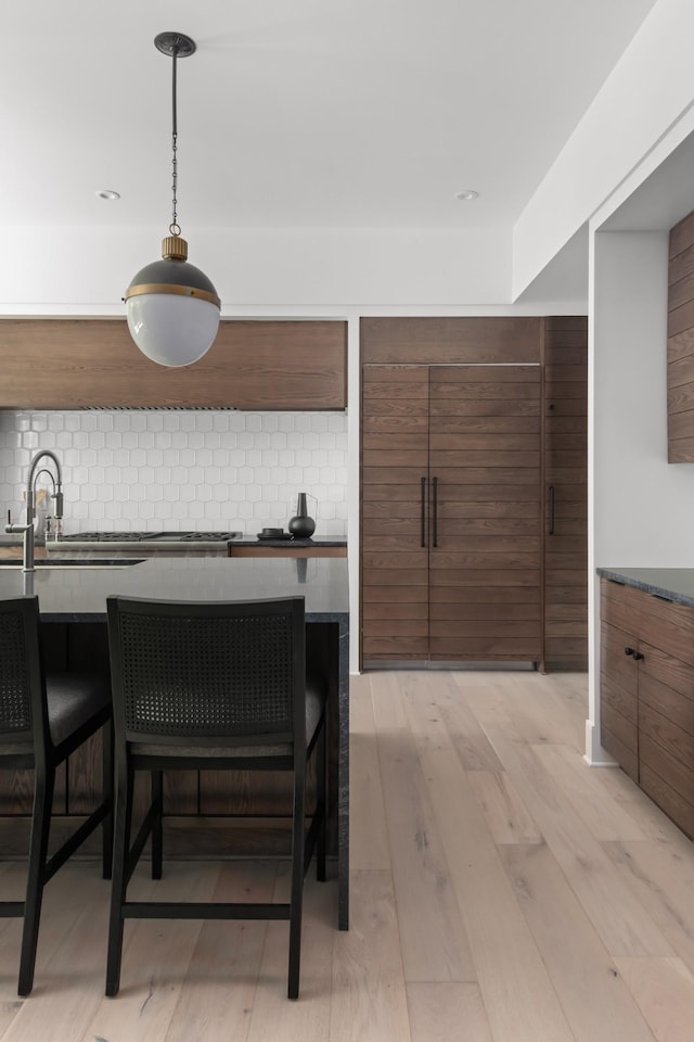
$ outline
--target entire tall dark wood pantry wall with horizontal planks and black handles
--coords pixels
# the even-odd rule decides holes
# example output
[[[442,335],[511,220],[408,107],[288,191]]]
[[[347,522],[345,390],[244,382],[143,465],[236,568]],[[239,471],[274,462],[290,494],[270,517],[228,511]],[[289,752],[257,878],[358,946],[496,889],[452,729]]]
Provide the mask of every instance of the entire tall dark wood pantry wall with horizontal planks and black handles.
[[[363,319],[364,669],[587,665],[587,322]]]

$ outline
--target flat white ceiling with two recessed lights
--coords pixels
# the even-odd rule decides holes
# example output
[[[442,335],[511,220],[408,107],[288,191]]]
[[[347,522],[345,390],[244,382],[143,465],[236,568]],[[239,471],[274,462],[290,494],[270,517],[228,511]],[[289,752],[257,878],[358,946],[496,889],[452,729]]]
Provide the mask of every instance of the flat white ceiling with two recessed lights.
[[[654,2],[3,5],[0,223],[165,232],[177,30],[183,234],[511,226]]]

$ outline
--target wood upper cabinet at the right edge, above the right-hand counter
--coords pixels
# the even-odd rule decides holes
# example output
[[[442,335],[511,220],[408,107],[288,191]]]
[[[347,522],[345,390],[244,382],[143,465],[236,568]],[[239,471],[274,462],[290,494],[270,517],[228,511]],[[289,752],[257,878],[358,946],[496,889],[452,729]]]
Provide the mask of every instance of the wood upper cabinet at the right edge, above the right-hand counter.
[[[668,462],[694,462],[694,213],[670,229]]]

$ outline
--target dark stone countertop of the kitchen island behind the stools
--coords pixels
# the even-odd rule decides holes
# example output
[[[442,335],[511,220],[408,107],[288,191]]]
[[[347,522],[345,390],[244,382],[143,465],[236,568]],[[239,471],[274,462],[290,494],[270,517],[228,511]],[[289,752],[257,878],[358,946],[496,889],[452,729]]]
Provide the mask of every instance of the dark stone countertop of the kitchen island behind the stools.
[[[307,567],[310,564],[310,567]],[[349,621],[347,561],[316,558],[152,558],[119,568],[0,569],[0,597],[37,594],[47,622],[104,621],[106,597],[253,600],[304,596],[307,622]]]

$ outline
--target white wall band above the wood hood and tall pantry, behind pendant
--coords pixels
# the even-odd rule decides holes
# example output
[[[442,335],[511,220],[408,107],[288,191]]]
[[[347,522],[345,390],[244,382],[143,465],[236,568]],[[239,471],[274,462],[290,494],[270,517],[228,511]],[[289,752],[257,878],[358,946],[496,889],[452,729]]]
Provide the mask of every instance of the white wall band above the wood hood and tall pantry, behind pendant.
[[[8,227],[0,315],[125,315],[134,274],[160,255],[163,229]],[[451,231],[191,229],[189,258],[222,315],[324,306],[484,306],[511,300],[511,228]],[[98,258],[98,263],[95,263]]]

